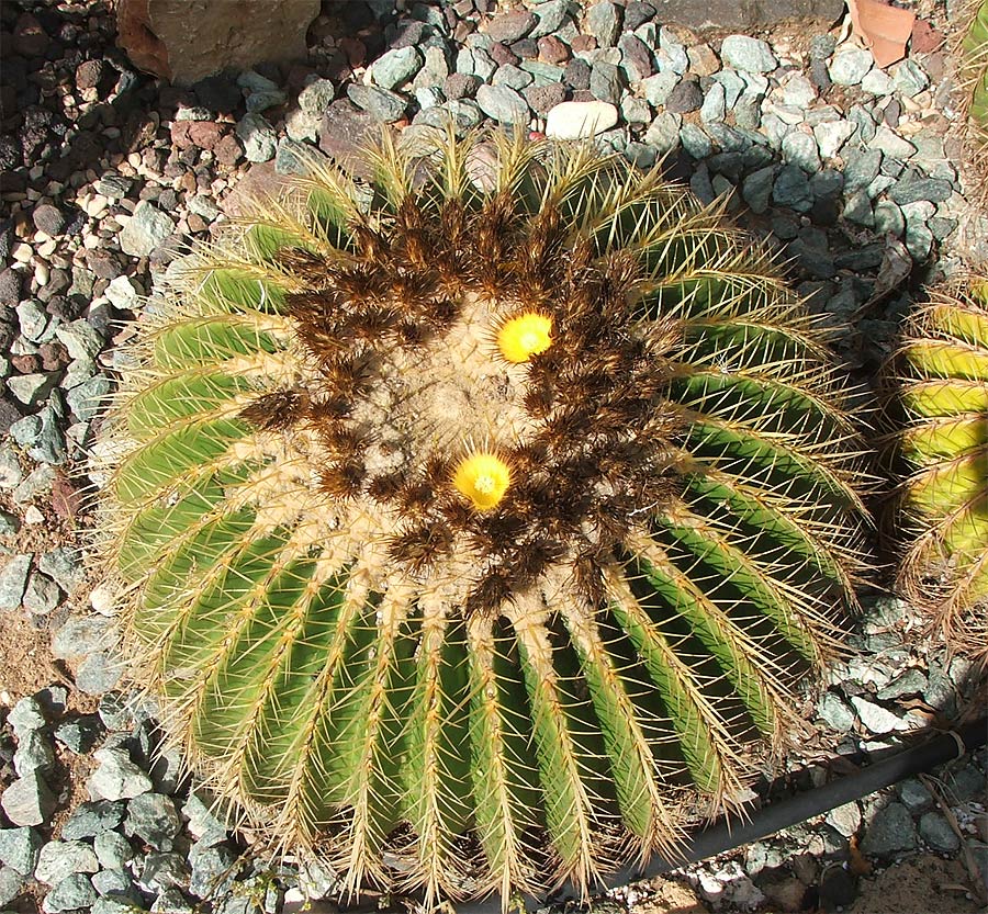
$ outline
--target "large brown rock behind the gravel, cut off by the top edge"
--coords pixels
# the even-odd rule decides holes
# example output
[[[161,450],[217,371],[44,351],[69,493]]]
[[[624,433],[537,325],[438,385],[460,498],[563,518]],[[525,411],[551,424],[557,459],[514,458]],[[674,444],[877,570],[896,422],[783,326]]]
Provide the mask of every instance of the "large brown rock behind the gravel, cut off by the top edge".
[[[306,56],[319,0],[120,0],[119,41],[135,66],[191,86],[231,68]]]

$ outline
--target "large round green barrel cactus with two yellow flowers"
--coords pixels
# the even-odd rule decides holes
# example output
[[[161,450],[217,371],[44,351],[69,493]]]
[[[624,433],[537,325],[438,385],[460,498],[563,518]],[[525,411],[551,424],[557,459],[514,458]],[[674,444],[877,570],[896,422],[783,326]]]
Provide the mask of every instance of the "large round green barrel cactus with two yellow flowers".
[[[343,891],[675,856],[860,558],[844,381],[717,207],[582,146],[314,162],[142,324],[101,450],[134,678]]]

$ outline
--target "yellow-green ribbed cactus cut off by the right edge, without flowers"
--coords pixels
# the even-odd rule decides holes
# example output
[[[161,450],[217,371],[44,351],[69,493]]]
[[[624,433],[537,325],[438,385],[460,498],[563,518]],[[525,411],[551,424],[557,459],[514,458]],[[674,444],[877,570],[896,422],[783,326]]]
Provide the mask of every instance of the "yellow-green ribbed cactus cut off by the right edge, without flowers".
[[[902,589],[948,646],[988,664],[988,273],[931,295],[898,370]]]

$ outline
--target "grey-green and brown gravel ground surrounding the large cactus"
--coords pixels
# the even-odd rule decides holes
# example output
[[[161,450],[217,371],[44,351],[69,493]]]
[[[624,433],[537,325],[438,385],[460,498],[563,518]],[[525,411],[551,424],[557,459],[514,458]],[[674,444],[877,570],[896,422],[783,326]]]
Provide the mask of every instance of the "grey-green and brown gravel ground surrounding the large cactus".
[[[0,7],[0,909],[280,912],[334,888],[252,858],[160,751],[114,654],[113,595],[80,557],[82,460],[115,345],[176,251],[236,211],[248,172],[277,187],[301,146],[345,157],[386,123],[414,134],[451,115],[561,137],[594,123],[641,166],[667,154],[700,199],[732,193],[866,384],[919,285],[988,259],[988,218],[957,168],[953,4],[921,0],[932,31],[887,70],[827,23],[709,37],[645,2],[397,5],[324,3],[306,65],[192,90],[136,72],[102,0]],[[916,639],[910,607],[879,591],[864,605],[861,657],[808,697],[815,735],[774,792],[977,707],[966,665]],[[676,878],[697,911],[977,910],[986,765],[983,751]],[[927,881],[903,881],[920,865]],[[662,891],[602,904],[669,910]]]

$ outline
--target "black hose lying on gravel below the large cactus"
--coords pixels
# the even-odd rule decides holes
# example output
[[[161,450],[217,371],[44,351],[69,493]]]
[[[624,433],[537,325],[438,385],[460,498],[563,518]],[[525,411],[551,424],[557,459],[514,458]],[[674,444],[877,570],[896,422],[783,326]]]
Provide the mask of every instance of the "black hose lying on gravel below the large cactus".
[[[853,775],[832,780],[821,787],[797,793],[775,803],[770,803],[752,812],[748,821],[732,819],[718,822],[705,828],[688,840],[683,848],[683,856],[676,860],[654,857],[643,867],[627,867],[610,873],[597,887],[599,890],[625,885],[641,879],[650,879],[669,870],[715,857],[742,844],[760,840],[783,828],[797,825],[815,815],[860,800],[884,787],[898,783],[910,775],[928,771],[945,761],[953,761],[965,753],[974,752],[988,742],[988,718],[970,723],[958,730],[946,733],[918,746],[896,753],[890,758],[868,765]],[[579,893],[566,885],[553,898],[575,898]],[[526,900],[526,909],[544,906],[541,899]],[[474,904],[457,905],[458,914],[499,914],[501,900],[490,899]]]

